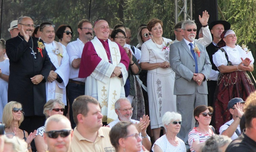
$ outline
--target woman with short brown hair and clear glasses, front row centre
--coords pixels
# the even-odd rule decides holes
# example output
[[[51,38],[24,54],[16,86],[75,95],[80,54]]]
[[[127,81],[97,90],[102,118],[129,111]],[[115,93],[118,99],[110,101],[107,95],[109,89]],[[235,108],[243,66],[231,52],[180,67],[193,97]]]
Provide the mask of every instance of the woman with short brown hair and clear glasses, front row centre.
[[[119,122],[109,132],[110,142],[116,152],[140,152],[142,138],[131,122]],[[143,151],[148,152],[144,146]]]

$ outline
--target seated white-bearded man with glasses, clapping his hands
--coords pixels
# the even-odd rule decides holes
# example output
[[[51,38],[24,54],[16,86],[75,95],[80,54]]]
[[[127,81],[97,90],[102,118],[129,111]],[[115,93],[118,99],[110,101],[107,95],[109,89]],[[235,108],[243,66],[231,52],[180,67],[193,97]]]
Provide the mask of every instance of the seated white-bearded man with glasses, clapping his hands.
[[[133,120],[133,107],[130,101],[127,98],[120,98],[115,102],[115,113],[117,114],[118,118],[115,121],[112,121],[108,124],[109,128],[112,128],[115,124],[120,121],[130,121],[135,124],[136,128],[140,133],[140,137],[142,138],[142,145],[150,150],[151,148],[151,141],[150,137],[147,135],[146,130],[149,126],[149,116],[143,116],[140,121]],[[142,149],[141,149],[142,150]]]

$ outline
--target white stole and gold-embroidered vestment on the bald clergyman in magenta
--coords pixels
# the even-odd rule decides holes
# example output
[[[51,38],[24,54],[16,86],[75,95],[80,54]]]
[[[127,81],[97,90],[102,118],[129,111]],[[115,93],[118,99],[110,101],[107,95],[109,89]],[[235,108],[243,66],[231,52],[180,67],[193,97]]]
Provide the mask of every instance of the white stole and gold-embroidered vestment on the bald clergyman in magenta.
[[[98,56],[102,59],[85,82],[85,95],[94,97],[100,103],[103,122],[110,123],[117,119],[114,104],[119,98],[125,98],[124,84],[128,77],[126,67],[120,63],[121,54],[118,45],[108,40],[112,64],[107,53],[97,37],[91,40]],[[123,77],[111,77],[116,66],[122,67]],[[111,77],[111,78],[110,78]]]

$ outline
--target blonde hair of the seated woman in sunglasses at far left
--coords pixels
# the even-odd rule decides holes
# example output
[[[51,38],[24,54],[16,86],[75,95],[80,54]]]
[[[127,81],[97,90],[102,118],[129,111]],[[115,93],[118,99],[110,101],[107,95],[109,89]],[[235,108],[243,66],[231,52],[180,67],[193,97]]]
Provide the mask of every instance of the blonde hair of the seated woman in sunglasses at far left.
[[[11,127],[11,122],[13,120],[13,115],[12,115],[13,108],[22,108],[22,105],[19,102],[11,101],[4,106],[2,121],[3,121],[3,124],[5,124],[5,128]],[[18,121],[19,126],[23,120],[24,120],[24,115],[21,115],[21,119]]]

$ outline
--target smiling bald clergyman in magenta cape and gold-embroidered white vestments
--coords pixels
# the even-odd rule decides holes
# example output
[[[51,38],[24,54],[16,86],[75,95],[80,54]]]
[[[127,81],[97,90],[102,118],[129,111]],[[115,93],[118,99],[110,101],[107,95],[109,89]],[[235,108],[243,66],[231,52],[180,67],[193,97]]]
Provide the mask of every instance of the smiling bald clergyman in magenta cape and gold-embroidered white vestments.
[[[84,46],[79,78],[86,78],[85,95],[92,96],[100,103],[102,122],[117,119],[114,103],[124,98],[124,84],[128,77],[129,57],[117,43],[108,40],[107,21],[94,23],[95,37]]]

